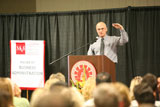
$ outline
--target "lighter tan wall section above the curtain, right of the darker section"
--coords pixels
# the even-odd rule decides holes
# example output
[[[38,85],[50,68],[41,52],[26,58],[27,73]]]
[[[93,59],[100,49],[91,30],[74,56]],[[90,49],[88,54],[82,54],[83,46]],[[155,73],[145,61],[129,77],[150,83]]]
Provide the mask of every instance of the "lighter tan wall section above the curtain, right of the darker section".
[[[160,0],[37,0],[37,12],[160,6]]]

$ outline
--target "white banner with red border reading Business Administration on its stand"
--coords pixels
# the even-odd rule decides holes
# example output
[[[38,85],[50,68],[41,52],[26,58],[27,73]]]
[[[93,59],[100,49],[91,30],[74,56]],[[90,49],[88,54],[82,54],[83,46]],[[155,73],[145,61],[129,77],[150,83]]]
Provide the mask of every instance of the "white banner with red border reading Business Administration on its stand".
[[[10,55],[10,78],[29,99],[29,90],[45,84],[45,41],[11,40]]]

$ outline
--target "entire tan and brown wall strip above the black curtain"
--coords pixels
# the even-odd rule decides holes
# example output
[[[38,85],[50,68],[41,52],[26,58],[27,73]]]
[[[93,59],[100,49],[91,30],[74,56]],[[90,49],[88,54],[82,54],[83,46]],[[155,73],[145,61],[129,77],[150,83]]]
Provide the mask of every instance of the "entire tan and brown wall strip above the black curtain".
[[[160,6],[160,0],[0,0],[0,13],[55,12]]]

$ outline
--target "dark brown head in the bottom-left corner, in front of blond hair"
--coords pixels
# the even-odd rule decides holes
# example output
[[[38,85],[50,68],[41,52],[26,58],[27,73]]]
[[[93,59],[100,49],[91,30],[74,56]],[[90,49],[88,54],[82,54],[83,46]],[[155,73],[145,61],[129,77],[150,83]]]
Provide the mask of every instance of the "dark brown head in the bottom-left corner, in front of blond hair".
[[[0,91],[0,107],[12,107],[12,96],[9,92],[1,90]]]

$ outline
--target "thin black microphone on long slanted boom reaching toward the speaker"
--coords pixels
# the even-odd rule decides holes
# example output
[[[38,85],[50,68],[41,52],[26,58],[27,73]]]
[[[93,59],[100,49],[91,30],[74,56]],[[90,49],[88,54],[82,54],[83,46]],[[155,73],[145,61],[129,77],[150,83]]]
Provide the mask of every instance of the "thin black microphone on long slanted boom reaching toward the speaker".
[[[50,64],[50,65],[54,64],[55,62],[57,62],[57,61],[63,59],[64,57],[66,57],[66,56],[72,54],[73,52],[76,52],[76,51],[80,50],[81,48],[84,48],[84,47],[88,46],[89,44],[95,42],[95,40],[97,40],[97,39],[98,39],[98,38],[96,37],[96,39],[92,40],[91,42],[88,42],[87,44],[85,44],[85,45],[83,45],[83,46],[80,46],[79,48],[77,48],[77,49],[75,49],[75,50],[73,50],[73,51],[71,51],[71,52],[69,52],[69,53],[67,53],[67,54],[65,54],[65,55],[63,55],[63,56],[61,56],[60,58],[58,58],[58,59],[52,61],[52,62],[49,63],[49,64]]]

